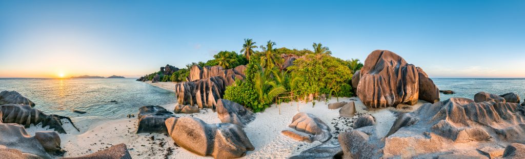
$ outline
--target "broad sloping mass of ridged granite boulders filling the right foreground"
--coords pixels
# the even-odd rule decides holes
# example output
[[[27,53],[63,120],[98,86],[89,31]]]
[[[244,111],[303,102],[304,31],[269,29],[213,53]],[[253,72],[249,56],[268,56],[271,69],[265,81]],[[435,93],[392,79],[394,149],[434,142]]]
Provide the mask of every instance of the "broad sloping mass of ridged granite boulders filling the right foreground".
[[[339,142],[344,155],[352,158],[464,158],[479,157],[478,151],[493,157],[522,154],[525,149],[511,143],[525,142],[525,108],[485,92],[475,99],[426,103],[398,117],[387,134],[365,126],[341,133]],[[505,155],[501,145],[507,144]]]

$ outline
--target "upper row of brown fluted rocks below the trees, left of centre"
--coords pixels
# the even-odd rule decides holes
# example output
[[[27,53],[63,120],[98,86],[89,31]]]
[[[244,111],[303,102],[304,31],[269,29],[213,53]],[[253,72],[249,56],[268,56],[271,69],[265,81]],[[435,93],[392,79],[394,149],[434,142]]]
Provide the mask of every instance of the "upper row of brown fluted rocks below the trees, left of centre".
[[[205,66],[202,68],[194,65],[190,69],[190,75],[188,76],[187,81],[196,81],[220,76],[224,78],[224,82],[226,83],[226,86],[228,86],[232,85],[235,82],[235,79],[244,80],[244,78],[246,78],[244,70],[246,70],[245,65],[240,65],[232,69],[223,69],[223,67],[220,66]]]

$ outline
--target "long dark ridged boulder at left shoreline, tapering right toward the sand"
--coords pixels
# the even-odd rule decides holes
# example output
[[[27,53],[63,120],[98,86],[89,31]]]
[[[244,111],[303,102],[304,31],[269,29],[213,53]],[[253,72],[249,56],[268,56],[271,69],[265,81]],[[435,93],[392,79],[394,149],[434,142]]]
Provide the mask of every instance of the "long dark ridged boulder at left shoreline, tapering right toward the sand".
[[[0,123],[16,123],[29,128],[31,124],[42,124],[42,127],[49,126],[49,129],[55,129],[59,133],[66,133],[62,127],[61,119],[67,119],[75,127],[69,117],[59,115],[46,115],[38,109],[31,108],[29,105],[4,104],[0,105]]]

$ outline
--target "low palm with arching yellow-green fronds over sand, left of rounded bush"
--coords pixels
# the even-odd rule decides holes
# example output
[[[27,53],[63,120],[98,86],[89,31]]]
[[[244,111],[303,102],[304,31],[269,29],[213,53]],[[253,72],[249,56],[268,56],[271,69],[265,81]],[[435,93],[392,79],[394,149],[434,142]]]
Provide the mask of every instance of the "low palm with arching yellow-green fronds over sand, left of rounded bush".
[[[285,87],[270,78],[270,71],[259,67],[259,72],[255,74],[254,89],[261,103],[270,103],[279,93],[286,92]]]

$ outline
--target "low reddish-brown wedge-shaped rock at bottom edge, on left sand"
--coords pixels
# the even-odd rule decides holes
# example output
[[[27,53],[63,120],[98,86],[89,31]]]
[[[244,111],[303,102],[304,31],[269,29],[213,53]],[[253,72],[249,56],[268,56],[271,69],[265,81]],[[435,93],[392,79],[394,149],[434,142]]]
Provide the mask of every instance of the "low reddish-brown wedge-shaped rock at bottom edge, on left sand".
[[[80,157],[64,157],[63,159],[131,159],[128,148],[124,143],[116,144],[108,149]]]

